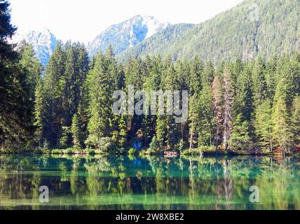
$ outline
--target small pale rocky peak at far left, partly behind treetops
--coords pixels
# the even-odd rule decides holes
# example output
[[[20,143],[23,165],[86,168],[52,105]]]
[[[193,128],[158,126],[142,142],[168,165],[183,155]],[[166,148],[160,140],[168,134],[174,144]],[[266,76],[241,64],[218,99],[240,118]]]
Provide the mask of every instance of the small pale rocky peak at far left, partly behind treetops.
[[[23,39],[33,45],[36,57],[41,61],[43,66],[46,66],[57,43],[54,34],[52,34],[49,29],[27,31],[23,34],[17,33],[13,37],[13,42],[20,43]]]

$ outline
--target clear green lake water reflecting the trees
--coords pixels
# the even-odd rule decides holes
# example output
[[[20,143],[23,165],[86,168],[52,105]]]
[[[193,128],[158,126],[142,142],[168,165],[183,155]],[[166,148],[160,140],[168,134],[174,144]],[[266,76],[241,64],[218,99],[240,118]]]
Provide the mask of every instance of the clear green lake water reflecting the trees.
[[[300,209],[300,158],[0,155],[0,209]],[[39,202],[48,186],[50,202]],[[250,186],[259,203],[250,202]]]

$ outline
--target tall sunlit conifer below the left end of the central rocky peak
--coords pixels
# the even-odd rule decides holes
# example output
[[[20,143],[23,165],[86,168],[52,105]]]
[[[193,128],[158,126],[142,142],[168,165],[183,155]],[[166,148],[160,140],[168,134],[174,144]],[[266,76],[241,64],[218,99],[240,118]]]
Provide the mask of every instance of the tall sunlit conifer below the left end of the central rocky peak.
[[[95,65],[88,74],[89,122],[88,146],[100,148],[102,139],[109,139],[114,132],[114,114],[112,95],[116,86],[112,73],[116,72],[116,60],[109,50],[106,55],[101,52],[95,58]]]

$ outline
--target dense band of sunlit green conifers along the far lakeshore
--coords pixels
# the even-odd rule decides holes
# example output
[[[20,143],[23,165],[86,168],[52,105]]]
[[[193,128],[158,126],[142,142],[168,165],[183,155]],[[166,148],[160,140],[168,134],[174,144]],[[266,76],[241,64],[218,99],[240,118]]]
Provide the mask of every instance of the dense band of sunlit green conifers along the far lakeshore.
[[[254,145],[269,151],[275,148],[292,151],[299,146],[299,90],[294,87],[295,74],[299,71],[296,56],[276,59],[281,66],[271,69],[277,74],[272,78],[268,74],[271,62],[261,59],[252,62],[237,59],[214,68],[210,62],[203,64],[198,59],[175,63],[170,59],[161,62],[159,57],[147,57],[135,59],[122,68],[109,51],[92,60],[88,78],[80,76],[83,81],[76,91],[81,94],[76,97],[76,91],[69,87],[73,85],[75,74],[59,59],[68,61],[70,46],[69,43],[57,49],[46,75],[37,78],[34,85],[34,113],[31,113],[35,146],[41,147],[46,142],[50,148],[75,146],[87,147],[88,153],[124,153],[130,142],[137,142],[142,143],[143,148],[149,146],[146,154],[183,150],[188,145],[190,151],[195,148],[215,150],[221,143],[224,149],[230,146],[243,152],[252,151]],[[64,52],[64,49],[69,50]],[[59,68],[62,74],[57,76]],[[264,74],[259,75],[260,78],[268,77],[261,88],[254,87],[254,83],[258,86],[261,83],[255,80],[258,73]],[[53,80],[55,77],[57,80]],[[58,85],[57,92],[50,89],[54,83]],[[276,90],[269,90],[275,83]],[[113,114],[112,93],[119,89],[126,92],[126,84],[147,91],[189,90],[188,121],[175,123],[175,116],[170,115]],[[77,103],[73,105],[73,102]],[[32,117],[28,118],[30,124]]]

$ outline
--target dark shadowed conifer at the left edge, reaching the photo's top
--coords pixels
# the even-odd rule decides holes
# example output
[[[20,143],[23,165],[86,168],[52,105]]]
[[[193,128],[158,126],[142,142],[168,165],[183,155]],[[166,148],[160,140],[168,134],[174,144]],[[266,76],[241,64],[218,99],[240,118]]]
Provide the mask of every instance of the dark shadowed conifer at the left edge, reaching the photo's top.
[[[8,39],[15,33],[8,1],[0,1],[0,144],[26,146],[32,132],[29,83]],[[0,146],[0,147],[1,147]]]

